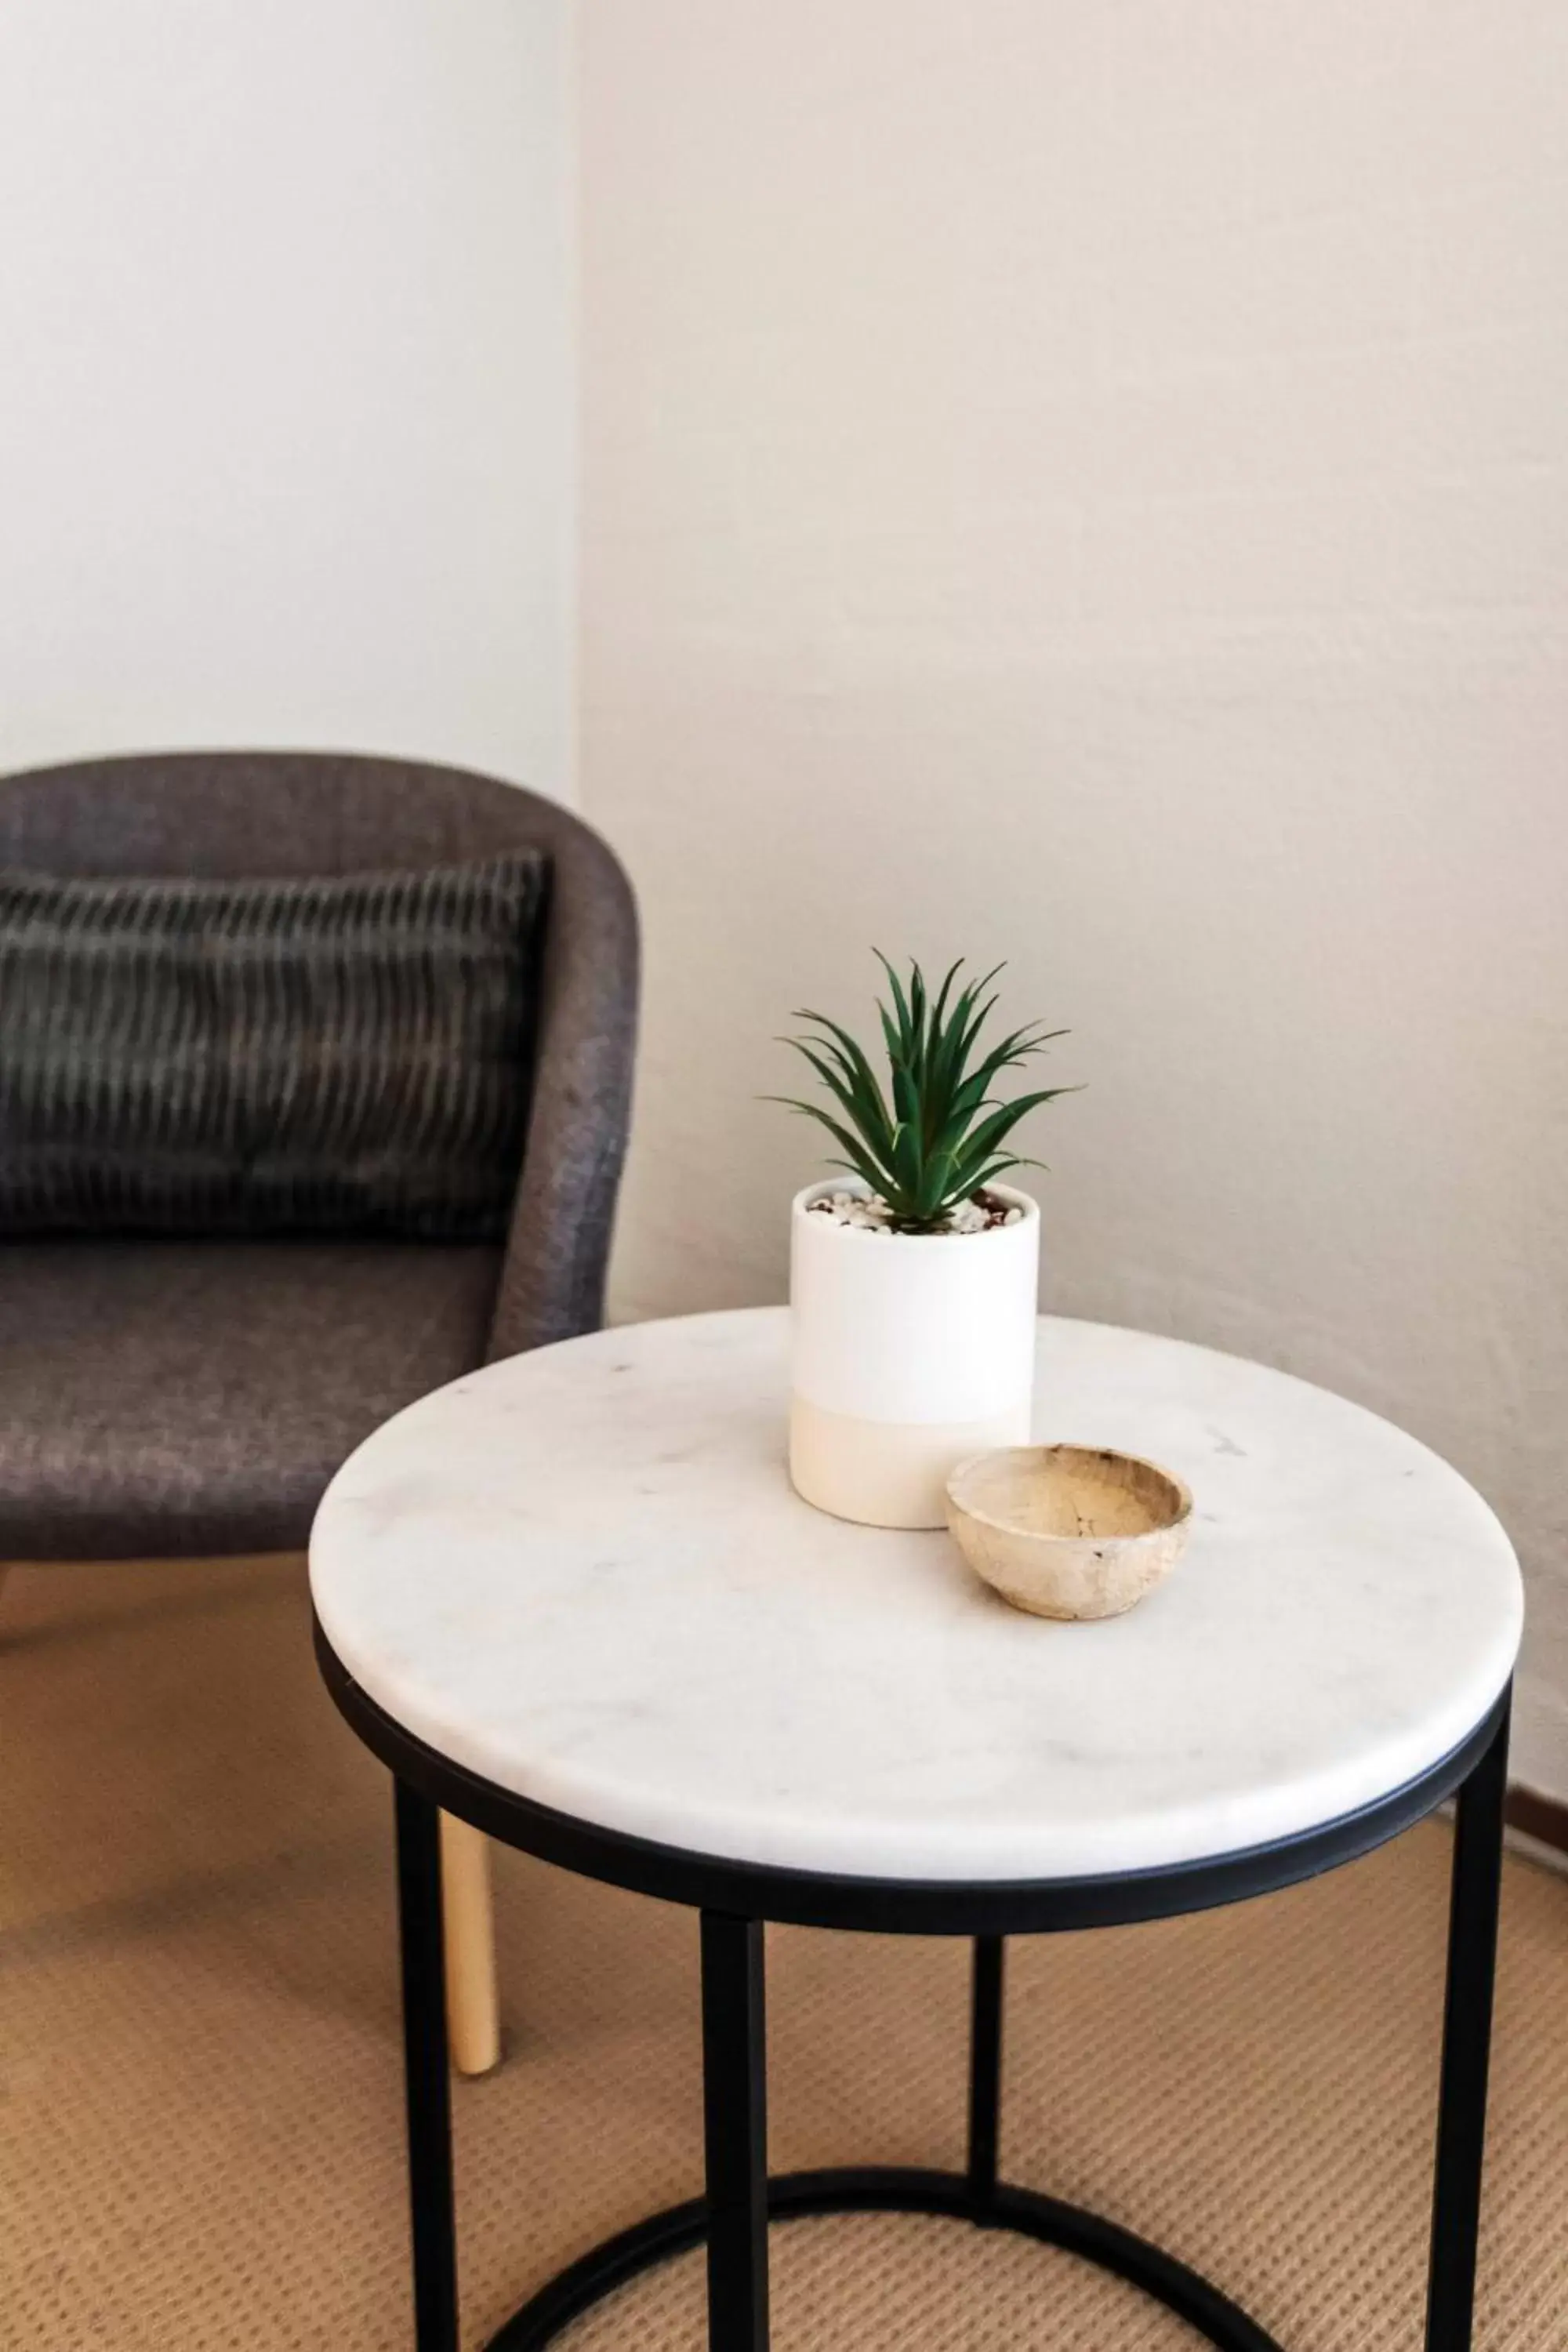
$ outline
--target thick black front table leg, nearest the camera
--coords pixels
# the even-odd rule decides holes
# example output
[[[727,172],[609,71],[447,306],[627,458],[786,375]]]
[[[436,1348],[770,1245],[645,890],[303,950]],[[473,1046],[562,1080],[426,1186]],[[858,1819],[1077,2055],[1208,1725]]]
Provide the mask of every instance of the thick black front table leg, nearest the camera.
[[[769,2084],[762,1919],[703,1912],[708,2347],[769,2343]]]

